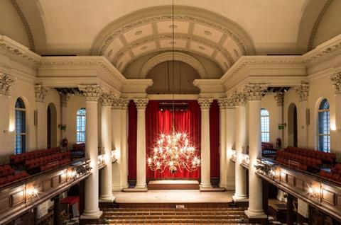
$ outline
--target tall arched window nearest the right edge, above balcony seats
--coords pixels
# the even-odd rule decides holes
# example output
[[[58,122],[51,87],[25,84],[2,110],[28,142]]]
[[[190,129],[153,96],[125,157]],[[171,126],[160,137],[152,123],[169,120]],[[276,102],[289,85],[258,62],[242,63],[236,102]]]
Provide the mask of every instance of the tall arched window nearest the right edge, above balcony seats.
[[[323,99],[318,108],[318,150],[330,151],[330,112],[327,99]]]

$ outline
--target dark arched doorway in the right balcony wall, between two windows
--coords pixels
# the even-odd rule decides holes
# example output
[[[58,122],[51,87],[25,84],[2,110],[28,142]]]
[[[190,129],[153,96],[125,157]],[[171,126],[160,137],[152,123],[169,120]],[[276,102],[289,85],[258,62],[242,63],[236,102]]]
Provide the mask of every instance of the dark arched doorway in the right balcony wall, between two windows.
[[[295,103],[291,103],[288,108],[288,146],[298,146],[297,108]]]

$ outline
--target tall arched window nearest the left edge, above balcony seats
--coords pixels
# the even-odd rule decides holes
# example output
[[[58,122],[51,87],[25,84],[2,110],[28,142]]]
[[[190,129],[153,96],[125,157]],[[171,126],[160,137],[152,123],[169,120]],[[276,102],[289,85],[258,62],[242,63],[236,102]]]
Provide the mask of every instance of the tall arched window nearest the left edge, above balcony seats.
[[[14,141],[15,154],[26,151],[26,108],[23,100],[16,100],[16,137]]]

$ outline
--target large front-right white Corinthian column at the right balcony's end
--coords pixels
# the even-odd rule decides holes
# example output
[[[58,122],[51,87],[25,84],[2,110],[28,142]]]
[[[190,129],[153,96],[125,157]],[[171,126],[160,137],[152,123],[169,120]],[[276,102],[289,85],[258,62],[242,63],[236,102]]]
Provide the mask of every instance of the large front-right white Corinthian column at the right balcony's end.
[[[256,175],[257,158],[261,158],[261,96],[266,86],[249,84],[244,91],[249,98],[249,218],[266,218],[263,210],[263,186]]]

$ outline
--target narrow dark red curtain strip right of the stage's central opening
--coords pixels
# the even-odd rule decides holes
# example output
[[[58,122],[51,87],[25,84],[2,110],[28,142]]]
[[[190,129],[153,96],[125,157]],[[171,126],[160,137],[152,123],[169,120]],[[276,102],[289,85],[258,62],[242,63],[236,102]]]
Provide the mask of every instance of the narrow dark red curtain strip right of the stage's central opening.
[[[220,178],[220,110],[217,100],[210,108],[210,162],[211,178]]]

